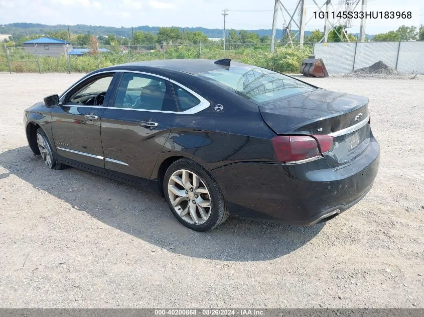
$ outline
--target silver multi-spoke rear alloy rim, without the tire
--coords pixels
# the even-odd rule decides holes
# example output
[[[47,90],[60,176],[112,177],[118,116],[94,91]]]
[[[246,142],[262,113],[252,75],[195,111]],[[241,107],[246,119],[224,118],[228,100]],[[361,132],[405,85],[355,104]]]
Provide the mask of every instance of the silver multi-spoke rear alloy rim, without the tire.
[[[174,210],[186,222],[202,224],[211,214],[211,199],[205,182],[189,170],[175,171],[168,182],[168,195]]]

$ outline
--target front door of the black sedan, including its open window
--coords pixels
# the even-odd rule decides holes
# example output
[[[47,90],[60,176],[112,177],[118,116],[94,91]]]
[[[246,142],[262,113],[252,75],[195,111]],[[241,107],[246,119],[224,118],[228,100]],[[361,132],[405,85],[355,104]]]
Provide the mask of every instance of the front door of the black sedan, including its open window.
[[[100,118],[112,93],[114,72],[91,76],[52,108],[52,133],[63,161],[104,171]]]

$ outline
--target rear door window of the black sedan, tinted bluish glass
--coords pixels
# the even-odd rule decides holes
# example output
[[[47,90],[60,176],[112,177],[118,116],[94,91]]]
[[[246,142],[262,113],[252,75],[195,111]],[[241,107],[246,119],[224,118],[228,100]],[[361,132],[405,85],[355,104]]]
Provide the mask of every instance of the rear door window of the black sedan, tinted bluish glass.
[[[176,111],[169,83],[161,78],[124,73],[116,92],[114,107],[154,111]]]

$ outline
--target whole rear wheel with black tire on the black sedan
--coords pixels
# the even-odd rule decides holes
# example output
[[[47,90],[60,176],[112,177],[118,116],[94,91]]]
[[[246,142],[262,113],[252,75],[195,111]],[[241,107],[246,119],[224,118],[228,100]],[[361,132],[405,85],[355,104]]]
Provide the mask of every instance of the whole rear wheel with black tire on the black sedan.
[[[179,159],[170,165],[163,188],[172,213],[190,229],[208,231],[229,216],[217,182],[190,159]]]

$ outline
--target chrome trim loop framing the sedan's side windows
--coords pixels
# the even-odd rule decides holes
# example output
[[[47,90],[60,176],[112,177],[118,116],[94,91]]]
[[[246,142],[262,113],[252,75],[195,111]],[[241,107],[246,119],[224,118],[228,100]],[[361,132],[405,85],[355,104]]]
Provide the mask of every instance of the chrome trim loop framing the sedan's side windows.
[[[86,80],[86,79],[88,79],[92,76],[96,76],[98,74],[105,74],[105,73],[136,73],[136,74],[142,74],[142,75],[148,75],[148,76],[152,76],[152,77],[161,78],[161,79],[167,80],[167,81],[169,81],[169,82],[171,82],[171,83],[173,83],[177,86],[180,86],[181,88],[183,88],[184,90],[186,90],[187,92],[189,92],[190,94],[195,96],[197,99],[199,99],[200,103],[197,106],[194,106],[193,108],[187,109],[185,111],[164,111],[164,110],[131,109],[131,108],[105,107],[105,106],[79,106],[79,105],[66,105],[66,104],[63,104],[63,106],[65,106],[65,107],[83,107],[83,108],[100,108],[100,109],[101,108],[104,108],[104,109],[119,109],[119,110],[132,110],[132,111],[160,112],[160,113],[174,113],[174,114],[182,114],[182,115],[192,115],[192,114],[198,113],[202,110],[205,110],[206,108],[208,108],[210,106],[209,101],[207,101],[205,98],[203,98],[202,96],[200,96],[199,94],[197,94],[196,92],[191,90],[190,88],[176,82],[175,80],[169,79],[169,78],[161,76],[161,75],[152,74],[152,73],[147,73],[147,72],[142,72],[142,71],[132,71],[132,70],[110,70],[110,71],[103,71],[103,72],[91,74],[90,76],[87,76],[84,80]],[[72,87],[68,88],[60,96],[59,101],[61,101],[69,91],[74,89],[79,84],[80,84],[80,81],[78,83],[74,84]]]

